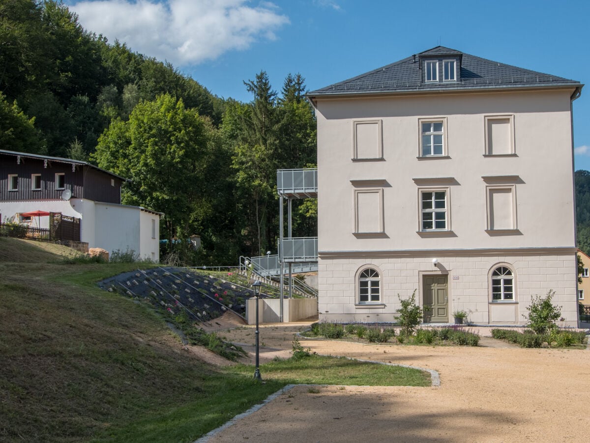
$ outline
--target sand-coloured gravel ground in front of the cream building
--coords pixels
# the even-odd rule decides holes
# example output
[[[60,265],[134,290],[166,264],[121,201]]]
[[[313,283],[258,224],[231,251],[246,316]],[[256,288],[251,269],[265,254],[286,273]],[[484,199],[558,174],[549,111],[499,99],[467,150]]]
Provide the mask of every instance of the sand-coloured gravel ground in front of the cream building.
[[[309,323],[265,325],[261,361],[289,356]],[[484,328],[483,335],[489,335]],[[253,344],[254,328],[224,331]],[[588,441],[590,351],[492,347],[301,344],[320,354],[437,370],[440,387],[298,386],[208,439],[210,442]],[[502,346],[499,344],[499,346]],[[262,374],[264,379],[264,372]]]

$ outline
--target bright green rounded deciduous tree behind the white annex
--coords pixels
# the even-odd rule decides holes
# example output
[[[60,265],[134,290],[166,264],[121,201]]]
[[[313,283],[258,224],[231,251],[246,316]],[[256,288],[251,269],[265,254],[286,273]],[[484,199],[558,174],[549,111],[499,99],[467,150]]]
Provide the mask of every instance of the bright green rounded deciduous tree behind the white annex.
[[[127,122],[114,120],[99,138],[99,167],[131,180],[123,203],[163,212],[170,244],[186,238],[195,208],[209,195],[209,121],[170,95],[140,102]],[[201,206],[202,208],[202,206]]]

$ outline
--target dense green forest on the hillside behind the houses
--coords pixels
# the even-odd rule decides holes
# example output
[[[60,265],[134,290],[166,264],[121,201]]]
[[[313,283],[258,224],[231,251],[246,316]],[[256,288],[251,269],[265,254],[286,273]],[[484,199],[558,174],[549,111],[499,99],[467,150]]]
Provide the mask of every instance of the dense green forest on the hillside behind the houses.
[[[84,30],[59,1],[0,0],[0,146],[89,161],[132,182],[123,203],[165,214],[183,263],[230,265],[276,252],[276,170],[316,163],[300,74],[277,93],[264,71],[248,103],[212,95],[169,63]],[[315,200],[294,202],[293,235],[315,236]]]

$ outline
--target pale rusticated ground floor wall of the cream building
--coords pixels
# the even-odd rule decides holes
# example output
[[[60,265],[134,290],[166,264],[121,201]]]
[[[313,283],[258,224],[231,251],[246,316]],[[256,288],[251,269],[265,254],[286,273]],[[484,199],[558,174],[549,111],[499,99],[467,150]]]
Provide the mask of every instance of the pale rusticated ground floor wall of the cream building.
[[[500,265],[513,272],[513,301],[492,299],[491,273]],[[378,271],[381,280],[381,297],[375,304],[359,301],[359,275],[367,267]],[[408,298],[416,291],[423,305],[425,277],[437,275],[446,275],[450,323],[454,311],[464,310],[471,323],[524,325],[531,298],[552,289],[553,304],[562,307],[559,325],[578,326],[575,248],[320,252],[320,321],[393,322],[400,307],[398,295]]]

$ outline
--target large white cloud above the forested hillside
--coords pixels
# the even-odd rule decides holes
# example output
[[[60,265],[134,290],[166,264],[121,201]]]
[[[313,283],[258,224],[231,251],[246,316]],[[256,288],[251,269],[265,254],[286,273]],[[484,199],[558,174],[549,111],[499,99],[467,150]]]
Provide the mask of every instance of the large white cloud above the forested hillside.
[[[275,40],[289,23],[277,6],[247,0],[98,0],[69,6],[88,31],[118,39],[133,50],[175,65],[213,60],[245,50],[258,40]]]

